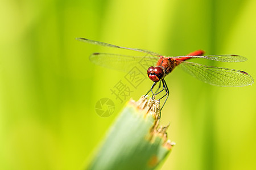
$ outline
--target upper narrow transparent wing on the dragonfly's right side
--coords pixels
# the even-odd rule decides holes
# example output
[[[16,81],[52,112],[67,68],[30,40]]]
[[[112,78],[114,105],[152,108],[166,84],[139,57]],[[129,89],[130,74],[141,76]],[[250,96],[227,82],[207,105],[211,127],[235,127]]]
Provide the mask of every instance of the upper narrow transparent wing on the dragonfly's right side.
[[[221,61],[221,62],[242,62],[247,60],[247,58],[243,56],[238,56],[238,55],[177,56],[177,57],[171,57],[171,58],[183,58],[183,57],[205,58],[205,59],[211,59],[211,60]]]

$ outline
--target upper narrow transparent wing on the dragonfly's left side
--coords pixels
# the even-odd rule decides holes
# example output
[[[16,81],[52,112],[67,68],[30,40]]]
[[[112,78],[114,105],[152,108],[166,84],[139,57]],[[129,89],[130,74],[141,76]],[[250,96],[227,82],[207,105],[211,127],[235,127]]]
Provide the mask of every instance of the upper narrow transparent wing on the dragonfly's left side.
[[[108,44],[105,42],[94,41],[94,40],[89,40],[89,39],[85,39],[85,38],[76,38],[76,40],[79,40],[82,42],[87,42],[87,43],[94,44],[94,45],[108,46],[108,47],[121,48],[121,49],[129,49],[129,50],[133,50],[136,52],[151,54],[153,56],[161,56],[160,54],[151,52],[150,50],[144,50],[144,49],[138,49],[138,48],[127,48],[127,47],[123,47],[123,46],[112,45],[112,44]]]

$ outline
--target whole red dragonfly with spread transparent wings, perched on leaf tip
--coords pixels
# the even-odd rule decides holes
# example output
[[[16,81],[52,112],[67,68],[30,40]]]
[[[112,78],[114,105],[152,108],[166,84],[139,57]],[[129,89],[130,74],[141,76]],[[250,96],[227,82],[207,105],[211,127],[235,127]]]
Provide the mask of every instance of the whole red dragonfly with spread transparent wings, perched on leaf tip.
[[[245,57],[234,54],[203,56],[203,50],[196,50],[195,52],[189,53],[187,56],[166,57],[150,50],[127,48],[85,38],[76,38],[76,40],[94,45],[108,46],[146,53],[146,56],[126,56],[121,54],[93,53],[89,56],[89,59],[96,65],[124,72],[129,72],[134,66],[140,66],[144,70],[147,69],[148,78],[154,82],[147,94],[151,91],[152,98],[155,99],[156,95],[160,94],[162,91],[165,91],[165,94],[160,97],[160,99],[163,99],[163,97],[166,96],[166,100],[164,101],[162,108],[170,94],[164,78],[169,73],[171,73],[171,71],[174,70],[176,66],[181,67],[185,72],[191,74],[195,78],[213,86],[242,87],[249,86],[254,83],[251,75],[245,71],[223,67],[206,66],[187,61],[191,58],[203,58],[221,62],[243,62],[247,60]],[[155,92],[153,92],[153,88],[158,82],[159,87]],[[163,87],[161,87],[161,82]],[[147,94],[145,96],[147,96]],[[160,110],[162,110],[162,108]]]

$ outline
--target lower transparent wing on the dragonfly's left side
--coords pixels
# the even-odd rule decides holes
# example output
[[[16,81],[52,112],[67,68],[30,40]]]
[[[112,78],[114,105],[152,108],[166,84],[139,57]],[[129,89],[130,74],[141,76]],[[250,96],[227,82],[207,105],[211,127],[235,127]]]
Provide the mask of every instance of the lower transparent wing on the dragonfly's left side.
[[[93,53],[90,55],[89,59],[96,65],[127,73],[133,69],[134,66],[142,69],[142,71],[146,71],[148,67],[155,66],[159,58],[152,56],[139,57],[108,53]]]

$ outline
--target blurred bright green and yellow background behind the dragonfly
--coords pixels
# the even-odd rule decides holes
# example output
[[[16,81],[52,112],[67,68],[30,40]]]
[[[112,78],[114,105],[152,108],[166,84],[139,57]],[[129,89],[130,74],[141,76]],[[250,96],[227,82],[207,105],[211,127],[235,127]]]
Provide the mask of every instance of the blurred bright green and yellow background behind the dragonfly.
[[[253,0],[2,0],[0,169],[82,169],[125,104],[110,89],[126,74],[93,65],[88,56],[131,52],[75,37],[166,56],[197,49],[240,54],[248,61],[198,61],[256,78],[255,16]],[[255,169],[255,84],[214,87],[181,69],[166,82],[171,95],[161,121],[171,122],[168,137],[177,145],[161,169]],[[151,85],[144,80],[126,100],[138,100]],[[94,110],[103,97],[115,103],[107,118]]]

